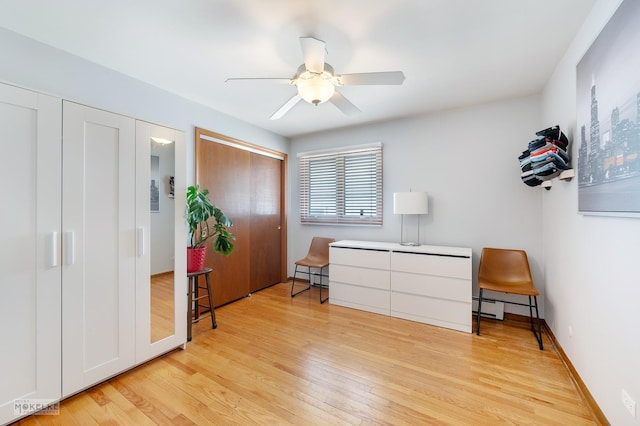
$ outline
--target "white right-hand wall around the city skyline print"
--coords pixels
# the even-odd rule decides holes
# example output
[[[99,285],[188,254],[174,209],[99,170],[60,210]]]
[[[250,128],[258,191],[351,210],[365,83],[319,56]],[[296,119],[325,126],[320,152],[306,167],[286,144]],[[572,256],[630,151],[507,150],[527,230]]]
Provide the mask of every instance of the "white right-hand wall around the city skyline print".
[[[595,4],[544,91],[543,121],[573,136],[576,65],[619,4]],[[546,321],[607,419],[637,425],[621,389],[640,404],[640,219],[580,215],[577,194],[574,179],[543,195]]]

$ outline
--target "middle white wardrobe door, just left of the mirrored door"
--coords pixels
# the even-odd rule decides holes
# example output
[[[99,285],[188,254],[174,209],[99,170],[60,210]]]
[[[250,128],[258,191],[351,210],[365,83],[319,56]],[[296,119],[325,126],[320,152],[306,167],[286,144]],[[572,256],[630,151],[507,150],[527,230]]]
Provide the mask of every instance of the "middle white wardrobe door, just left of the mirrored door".
[[[135,120],[63,102],[62,395],[135,363]]]

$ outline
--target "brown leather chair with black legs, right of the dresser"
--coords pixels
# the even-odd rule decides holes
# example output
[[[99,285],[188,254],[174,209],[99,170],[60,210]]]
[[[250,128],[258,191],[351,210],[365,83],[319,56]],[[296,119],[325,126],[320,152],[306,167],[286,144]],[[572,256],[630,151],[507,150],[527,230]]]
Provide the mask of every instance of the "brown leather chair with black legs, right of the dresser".
[[[524,250],[507,250],[497,248],[483,248],[480,255],[480,266],[478,267],[478,287],[480,294],[478,297],[478,319],[476,334],[480,335],[480,312],[482,312],[482,301],[504,302],[513,305],[528,306],[531,320],[531,331],[533,331],[538,346],[542,350],[542,333],[540,331],[540,317],[538,316],[538,290],[533,285],[529,260]],[[483,296],[484,290],[497,291],[508,294],[519,294],[529,297],[529,304],[509,302],[506,300],[490,299]],[[533,298],[533,303],[532,302]],[[533,324],[533,310],[536,311],[538,330]]]

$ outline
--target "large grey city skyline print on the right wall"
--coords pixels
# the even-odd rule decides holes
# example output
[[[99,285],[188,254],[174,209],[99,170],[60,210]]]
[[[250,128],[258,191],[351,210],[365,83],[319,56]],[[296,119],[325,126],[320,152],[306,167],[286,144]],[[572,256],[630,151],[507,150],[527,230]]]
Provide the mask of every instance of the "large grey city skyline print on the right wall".
[[[640,213],[640,2],[624,0],[576,67],[578,210]]]

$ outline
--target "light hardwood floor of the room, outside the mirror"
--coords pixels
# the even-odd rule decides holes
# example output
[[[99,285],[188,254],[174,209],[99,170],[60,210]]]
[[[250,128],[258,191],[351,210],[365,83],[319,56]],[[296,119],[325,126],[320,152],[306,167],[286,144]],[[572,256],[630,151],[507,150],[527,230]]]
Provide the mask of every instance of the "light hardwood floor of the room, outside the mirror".
[[[193,341],[20,424],[597,424],[552,343],[291,299],[278,284],[216,310]]]

